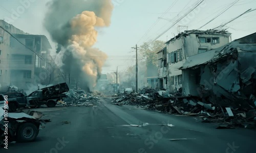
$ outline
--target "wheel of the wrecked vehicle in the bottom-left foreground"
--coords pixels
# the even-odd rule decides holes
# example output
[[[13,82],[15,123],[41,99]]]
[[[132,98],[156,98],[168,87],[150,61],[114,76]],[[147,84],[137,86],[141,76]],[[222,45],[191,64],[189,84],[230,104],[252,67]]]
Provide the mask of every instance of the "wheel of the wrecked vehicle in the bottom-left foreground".
[[[18,142],[30,142],[35,140],[39,129],[33,123],[23,123],[17,128],[16,136]]]

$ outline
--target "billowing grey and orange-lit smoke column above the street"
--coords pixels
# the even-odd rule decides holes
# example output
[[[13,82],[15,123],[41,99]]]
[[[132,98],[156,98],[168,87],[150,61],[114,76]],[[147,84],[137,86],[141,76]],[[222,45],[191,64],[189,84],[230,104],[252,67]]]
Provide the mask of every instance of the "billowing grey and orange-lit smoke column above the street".
[[[98,35],[95,28],[110,26],[111,0],[53,0],[47,5],[45,27],[58,43],[61,70],[77,79],[82,89],[92,91],[107,58],[93,48]]]

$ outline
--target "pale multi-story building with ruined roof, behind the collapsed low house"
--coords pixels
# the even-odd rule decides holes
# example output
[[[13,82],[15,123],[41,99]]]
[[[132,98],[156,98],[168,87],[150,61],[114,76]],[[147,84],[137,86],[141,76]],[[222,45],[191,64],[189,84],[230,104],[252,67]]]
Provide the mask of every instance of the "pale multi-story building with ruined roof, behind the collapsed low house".
[[[230,39],[231,34],[226,31],[190,30],[167,41],[167,89],[175,92],[182,87],[182,71],[179,68],[187,57],[219,48]]]

